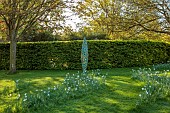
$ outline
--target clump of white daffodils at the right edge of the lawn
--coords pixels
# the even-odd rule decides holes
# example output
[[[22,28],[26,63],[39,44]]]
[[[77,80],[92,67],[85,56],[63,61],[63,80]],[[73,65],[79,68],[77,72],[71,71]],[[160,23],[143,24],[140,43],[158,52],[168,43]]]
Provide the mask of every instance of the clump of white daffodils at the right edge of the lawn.
[[[139,94],[137,105],[149,104],[155,102],[159,98],[165,98],[170,95],[170,78],[169,70],[156,71],[151,69],[132,70],[132,78],[145,82],[142,92]]]

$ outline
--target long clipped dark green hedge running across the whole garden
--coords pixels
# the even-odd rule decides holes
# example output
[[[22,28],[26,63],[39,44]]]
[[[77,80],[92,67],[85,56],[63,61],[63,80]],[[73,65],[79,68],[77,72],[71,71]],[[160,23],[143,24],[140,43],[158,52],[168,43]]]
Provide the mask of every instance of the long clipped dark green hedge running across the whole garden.
[[[17,69],[81,69],[82,41],[17,44]],[[170,44],[88,41],[88,69],[136,67],[170,60]],[[0,43],[0,69],[9,68],[9,43]]]

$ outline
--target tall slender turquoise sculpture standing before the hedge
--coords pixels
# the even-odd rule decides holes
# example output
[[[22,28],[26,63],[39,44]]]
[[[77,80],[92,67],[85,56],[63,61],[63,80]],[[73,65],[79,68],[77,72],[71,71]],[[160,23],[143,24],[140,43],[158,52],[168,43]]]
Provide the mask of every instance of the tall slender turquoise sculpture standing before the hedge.
[[[82,63],[83,74],[86,74],[87,64],[88,64],[88,45],[85,37],[81,49],[81,63]]]

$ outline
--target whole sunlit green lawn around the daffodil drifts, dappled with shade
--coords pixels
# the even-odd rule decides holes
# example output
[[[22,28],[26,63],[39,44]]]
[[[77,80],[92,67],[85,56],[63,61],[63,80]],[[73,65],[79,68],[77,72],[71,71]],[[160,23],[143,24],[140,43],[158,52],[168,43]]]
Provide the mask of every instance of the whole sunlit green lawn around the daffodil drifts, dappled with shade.
[[[170,113],[170,97],[156,101],[151,105],[136,108],[136,102],[144,83],[131,79],[132,68],[104,69],[101,73],[108,73],[106,85],[103,89],[89,93],[76,99],[51,105],[46,111],[36,113]],[[11,104],[16,95],[4,97],[5,86],[14,88],[14,80],[30,81],[31,87],[23,85],[21,93],[36,89],[44,89],[60,84],[66,73],[76,73],[76,70],[30,70],[18,71],[15,75],[7,75],[7,71],[0,71],[0,113]],[[55,102],[54,102],[55,103]],[[52,103],[52,104],[54,104]],[[50,104],[49,104],[50,106]]]

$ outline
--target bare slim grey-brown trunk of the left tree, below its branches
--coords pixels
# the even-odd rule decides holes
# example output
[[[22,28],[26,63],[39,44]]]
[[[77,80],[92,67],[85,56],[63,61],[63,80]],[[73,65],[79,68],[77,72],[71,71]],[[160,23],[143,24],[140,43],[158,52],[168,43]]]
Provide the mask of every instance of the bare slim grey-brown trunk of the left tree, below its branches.
[[[9,33],[10,36],[10,67],[9,67],[9,74],[16,73],[16,33],[13,30]]]

